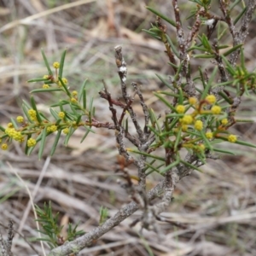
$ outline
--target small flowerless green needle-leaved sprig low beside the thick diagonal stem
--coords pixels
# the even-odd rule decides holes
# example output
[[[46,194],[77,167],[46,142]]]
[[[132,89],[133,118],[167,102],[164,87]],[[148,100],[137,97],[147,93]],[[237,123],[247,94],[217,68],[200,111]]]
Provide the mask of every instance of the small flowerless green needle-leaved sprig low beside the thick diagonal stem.
[[[38,213],[38,219],[36,219],[36,221],[38,221],[43,228],[43,230],[38,231],[44,234],[44,237],[37,238],[37,240],[46,241],[50,248],[59,247],[65,241],[73,241],[77,236],[85,234],[83,230],[77,230],[78,224],[74,227],[72,224],[68,224],[67,237],[61,236],[61,230],[64,226],[58,224],[59,213],[56,213],[55,216],[53,215],[50,202],[48,205],[44,203],[44,209],[38,206],[35,206],[35,208]]]

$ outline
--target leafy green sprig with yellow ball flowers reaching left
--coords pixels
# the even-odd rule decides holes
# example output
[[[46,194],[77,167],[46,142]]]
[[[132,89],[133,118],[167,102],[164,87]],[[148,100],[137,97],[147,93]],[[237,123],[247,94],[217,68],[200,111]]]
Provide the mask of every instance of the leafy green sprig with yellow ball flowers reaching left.
[[[41,159],[44,154],[44,146],[47,137],[55,132],[57,132],[57,136],[55,137],[55,142],[49,153],[50,155],[55,153],[61,132],[66,135],[65,145],[67,145],[69,138],[79,126],[84,127],[85,130],[82,141],[87,137],[89,132],[94,132],[90,126],[92,125],[92,118],[95,112],[92,99],[90,99],[90,104],[87,108],[85,89],[87,80],[84,80],[79,92],[77,92],[76,90],[70,90],[67,86],[67,79],[62,76],[66,50],[61,55],[61,62],[55,62],[53,64],[55,72],[52,72],[43,49],[42,55],[48,74],[44,75],[43,79],[31,79],[28,81],[29,83],[44,82],[43,88],[32,90],[31,93],[53,93],[59,91],[62,93],[61,101],[56,102],[49,108],[51,117],[45,117],[44,113],[38,111],[37,103],[34,97],[31,96],[30,103],[24,101],[22,104],[22,110],[26,119],[24,119],[20,125],[17,125],[15,120],[12,119],[12,123],[10,123],[7,129],[1,127],[3,134],[0,135],[1,139],[5,140],[2,145],[3,149],[7,149],[6,146],[13,140],[19,141],[20,143],[26,141],[25,152],[26,154],[31,154],[32,150],[39,144],[39,159]],[[85,117],[85,119],[83,120],[82,117]]]

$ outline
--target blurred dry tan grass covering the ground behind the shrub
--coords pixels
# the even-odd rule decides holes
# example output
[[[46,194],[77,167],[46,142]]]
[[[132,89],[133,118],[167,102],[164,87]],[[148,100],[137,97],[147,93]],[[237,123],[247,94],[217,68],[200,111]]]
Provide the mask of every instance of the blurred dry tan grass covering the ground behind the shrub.
[[[145,5],[154,6],[157,2],[159,9],[167,14],[171,1],[122,0],[115,1],[113,7],[107,0],[77,2],[79,5],[71,7],[70,3],[76,2],[0,0],[1,125],[10,116],[20,114],[21,99],[28,99],[28,92],[38,86],[27,84],[26,80],[46,72],[40,55],[42,47],[50,61],[57,61],[61,51],[68,49],[65,74],[74,89],[89,78],[90,95],[96,96],[104,79],[113,95],[119,96],[113,47],[122,44],[128,78],[143,84],[148,103],[161,111],[150,91],[162,86],[154,73],[168,74],[170,70],[163,46],[140,30],[154,22],[154,15],[144,9]],[[185,12],[189,14],[189,10]],[[254,35],[252,31],[245,53],[247,65],[252,68]],[[56,96],[37,95],[36,100],[44,110],[45,104],[54,102]],[[110,120],[108,107],[99,99],[95,102],[97,118]],[[240,115],[255,119],[254,106],[255,101],[247,99]],[[232,129],[243,140],[256,143],[255,125],[236,125]],[[114,172],[117,151],[113,132],[99,130],[80,145],[81,136],[78,131],[70,147],[59,147],[47,166],[44,165],[51,142],[41,161],[36,152],[26,157],[19,144],[1,152],[2,224],[12,218],[16,230],[26,237],[37,236],[32,211],[26,216],[26,208],[31,209],[26,189],[7,161],[32,193],[36,192],[36,204],[43,206],[44,201],[52,201],[55,212],[61,213],[61,224],[80,221],[81,229],[91,230],[98,223],[101,206],[107,207],[112,216],[129,201],[117,183],[119,174]],[[81,255],[256,255],[255,150],[241,147],[234,150],[236,156],[210,161],[203,167],[204,173],[193,172],[179,183],[172,206],[161,214],[166,218],[165,223],[160,223],[166,241],[147,230],[141,236],[139,224],[131,229],[129,224],[140,214],[137,212]],[[148,187],[155,183],[157,180],[152,178]],[[4,234],[3,229],[1,233]],[[33,245],[41,252],[38,242]],[[37,255],[20,236],[15,236],[14,253]]]

